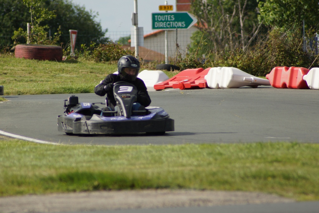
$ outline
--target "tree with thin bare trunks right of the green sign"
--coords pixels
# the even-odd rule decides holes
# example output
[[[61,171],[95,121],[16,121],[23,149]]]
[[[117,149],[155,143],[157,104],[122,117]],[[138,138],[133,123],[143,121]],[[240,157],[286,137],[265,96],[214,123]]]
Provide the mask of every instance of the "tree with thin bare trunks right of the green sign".
[[[215,52],[247,49],[262,27],[257,6],[256,0],[193,0],[192,13],[202,27],[195,43],[202,49],[205,42]]]

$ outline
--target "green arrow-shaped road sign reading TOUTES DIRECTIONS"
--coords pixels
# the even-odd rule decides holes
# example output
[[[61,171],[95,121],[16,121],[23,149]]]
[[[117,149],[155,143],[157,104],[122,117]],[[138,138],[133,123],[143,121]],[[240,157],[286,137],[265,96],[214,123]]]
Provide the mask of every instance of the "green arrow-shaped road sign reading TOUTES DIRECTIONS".
[[[187,29],[197,22],[188,12],[152,13],[153,30]]]

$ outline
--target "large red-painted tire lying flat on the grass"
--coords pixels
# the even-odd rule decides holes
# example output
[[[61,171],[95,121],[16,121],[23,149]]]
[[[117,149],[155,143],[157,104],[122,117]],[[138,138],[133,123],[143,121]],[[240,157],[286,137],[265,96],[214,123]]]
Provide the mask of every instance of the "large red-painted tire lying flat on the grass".
[[[63,50],[55,45],[18,44],[14,55],[16,58],[62,61]]]

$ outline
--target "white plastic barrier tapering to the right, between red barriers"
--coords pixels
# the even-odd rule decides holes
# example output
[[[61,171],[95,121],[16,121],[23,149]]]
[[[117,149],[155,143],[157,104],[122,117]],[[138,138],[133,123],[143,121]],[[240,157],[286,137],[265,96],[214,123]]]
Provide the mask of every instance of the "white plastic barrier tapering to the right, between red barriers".
[[[268,79],[255,77],[235,67],[212,67],[205,75],[205,80],[208,87],[215,89],[270,85]]]

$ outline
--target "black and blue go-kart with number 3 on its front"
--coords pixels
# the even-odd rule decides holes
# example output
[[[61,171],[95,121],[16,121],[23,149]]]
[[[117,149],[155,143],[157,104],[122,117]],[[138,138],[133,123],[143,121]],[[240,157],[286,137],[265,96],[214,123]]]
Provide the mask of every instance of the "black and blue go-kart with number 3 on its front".
[[[127,82],[116,82],[113,87],[115,110],[106,103],[79,103],[77,96],[64,100],[64,113],[59,115],[58,131],[66,134],[130,134],[162,135],[174,131],[174,120],[160,107],[145,107],[132,111],[137,100],[137,89]],[[100,107],[98,106],[100,104]]]

